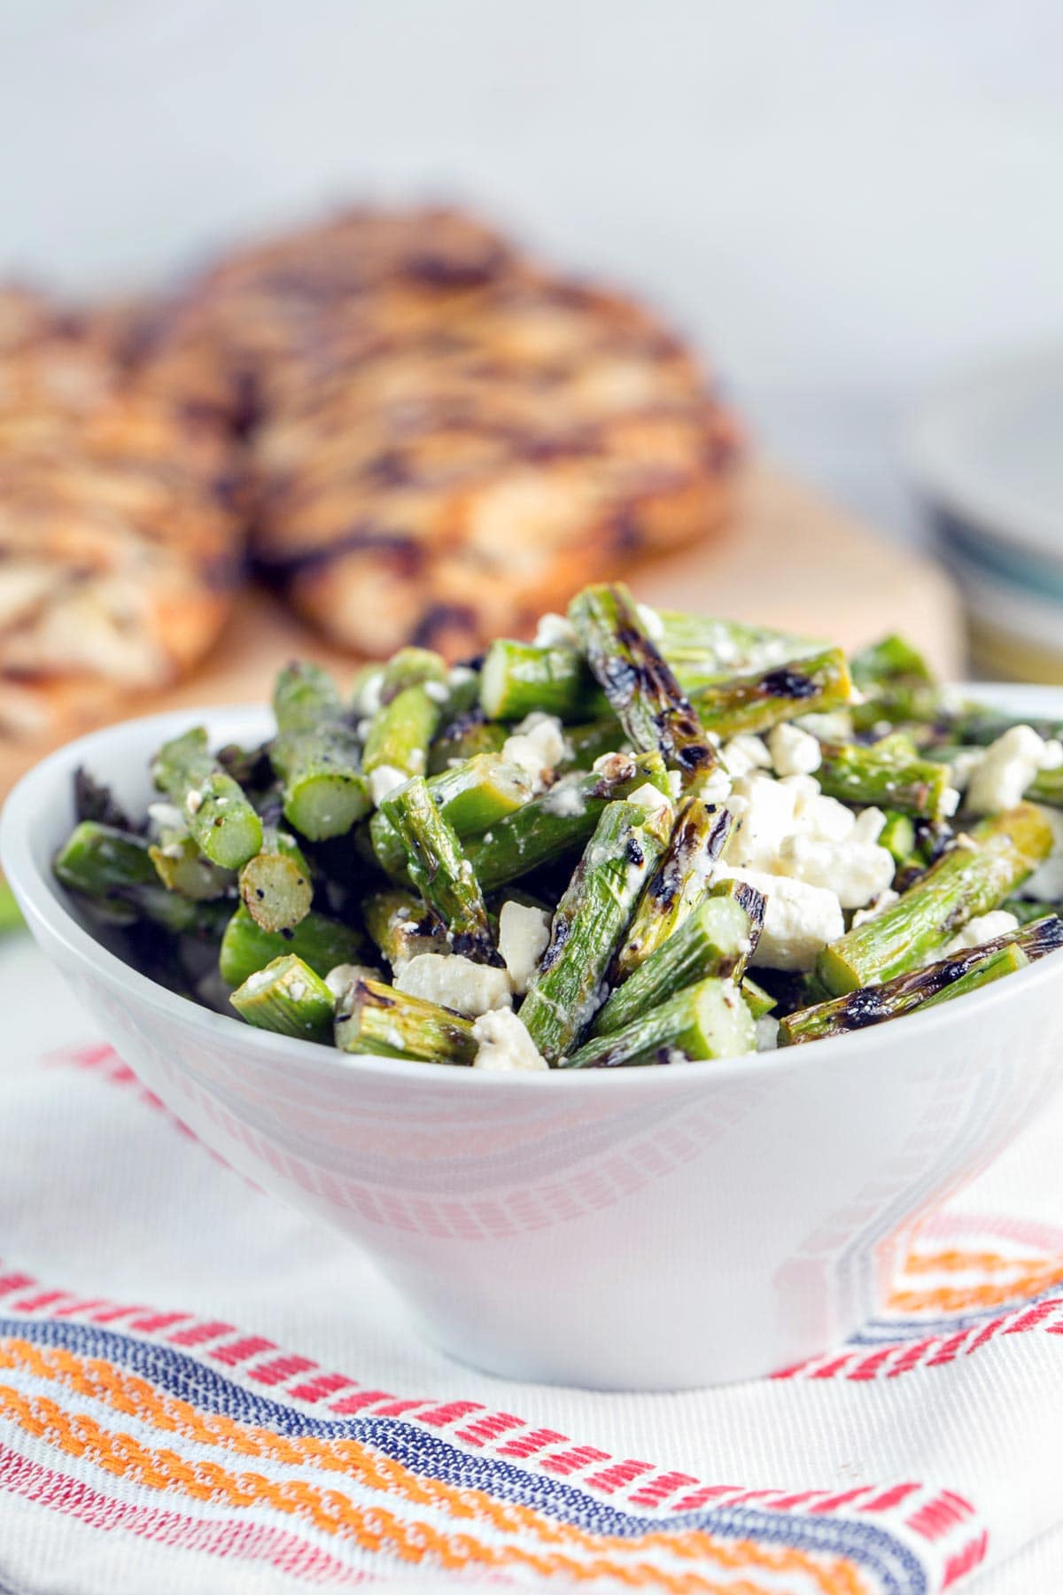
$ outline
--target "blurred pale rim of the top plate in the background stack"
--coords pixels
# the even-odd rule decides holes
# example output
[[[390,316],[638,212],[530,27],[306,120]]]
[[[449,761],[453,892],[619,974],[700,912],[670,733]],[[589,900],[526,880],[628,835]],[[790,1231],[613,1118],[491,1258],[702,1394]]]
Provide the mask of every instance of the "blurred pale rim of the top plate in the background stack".
[[[928,389],[907,418],[904,455],[931,507],[943,509],[987,538],[1063,563],[1063,514],[987,472],[967,437],[967,405],[1036,391],[1063,375],[1063,343],[998,351]]]

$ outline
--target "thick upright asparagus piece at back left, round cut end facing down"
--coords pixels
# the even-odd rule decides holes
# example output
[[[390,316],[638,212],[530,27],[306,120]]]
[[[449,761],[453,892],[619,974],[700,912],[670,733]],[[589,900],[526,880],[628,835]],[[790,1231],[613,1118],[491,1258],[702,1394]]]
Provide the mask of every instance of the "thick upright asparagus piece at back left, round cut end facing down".
[[[287,665],[273,708],[277,735],[269,756],[284,783],[288,825],[311,842],[343,836],[371,802],[335,681],[319,665]]]

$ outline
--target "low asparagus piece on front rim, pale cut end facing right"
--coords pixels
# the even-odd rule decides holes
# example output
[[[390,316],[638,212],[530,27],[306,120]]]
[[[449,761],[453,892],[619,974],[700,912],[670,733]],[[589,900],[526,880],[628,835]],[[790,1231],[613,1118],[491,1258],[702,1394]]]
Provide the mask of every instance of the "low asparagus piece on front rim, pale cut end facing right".
[[[617,1069],[668,1064],[673,1057],[738,1057],[757,1045],[754,1018],[733,981],[704,979],[620,1030],[591,1037],[559,1069]]]

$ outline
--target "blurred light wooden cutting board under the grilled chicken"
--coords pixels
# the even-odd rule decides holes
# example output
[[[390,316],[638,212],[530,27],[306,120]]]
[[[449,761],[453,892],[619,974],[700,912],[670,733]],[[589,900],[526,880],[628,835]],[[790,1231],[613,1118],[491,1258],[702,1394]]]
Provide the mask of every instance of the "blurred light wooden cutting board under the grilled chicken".
[[[647,603],[778,625],[848,649],[900,630],[943,676],[961,671],[959,603],[945,574],[765,464],[743,472],[735,525],[724,538],[636,565],[628,579]],[[182,705],[263,702],[277,667],[295,657],[316,659],[341,678],[354,668],[351,656],[320,643],[269,593],[252,590],[180,686],[131,697],[96,723]],[[0,798],[48,751],[48,742],[0,742]]]

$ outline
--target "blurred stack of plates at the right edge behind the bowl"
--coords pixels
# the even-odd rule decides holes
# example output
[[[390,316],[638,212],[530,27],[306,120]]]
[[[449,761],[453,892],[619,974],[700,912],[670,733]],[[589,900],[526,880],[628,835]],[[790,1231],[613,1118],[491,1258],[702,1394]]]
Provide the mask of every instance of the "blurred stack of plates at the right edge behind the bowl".
[[[908,463],[964,593],[975,667],[1063,681],[1063,348],[939,388],[912,423]]]

